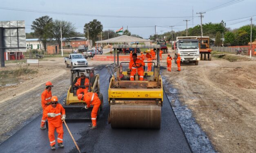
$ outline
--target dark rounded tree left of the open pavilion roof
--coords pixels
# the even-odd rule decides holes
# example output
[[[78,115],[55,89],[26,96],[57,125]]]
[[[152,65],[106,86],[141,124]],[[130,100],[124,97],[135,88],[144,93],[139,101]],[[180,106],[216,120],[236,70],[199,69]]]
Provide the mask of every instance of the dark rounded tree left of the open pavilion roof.
[[[102,32],[102,29],[103,29],[103,26],[100,23],[100,21],[94,19],[93,21],[85,24],[84,26],[85,37],[87,37],[87,33],[89,30],[89,39],[92,40],[92,44],[95,44],[98,35],[100,35],[100,32]]]

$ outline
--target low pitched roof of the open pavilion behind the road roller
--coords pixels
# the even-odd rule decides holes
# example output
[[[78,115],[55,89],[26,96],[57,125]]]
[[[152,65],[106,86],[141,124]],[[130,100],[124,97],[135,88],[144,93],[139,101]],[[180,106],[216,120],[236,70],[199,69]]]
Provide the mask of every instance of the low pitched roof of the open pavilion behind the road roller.
[[[98,41],[96,43],[118,43],[118,42],[152,42],[151,40],[148,39],[142,39],[138,37],[132,37],[129,35],[121,35],[119,37],[114,37],[111,39],[106,39],[102,41]]]

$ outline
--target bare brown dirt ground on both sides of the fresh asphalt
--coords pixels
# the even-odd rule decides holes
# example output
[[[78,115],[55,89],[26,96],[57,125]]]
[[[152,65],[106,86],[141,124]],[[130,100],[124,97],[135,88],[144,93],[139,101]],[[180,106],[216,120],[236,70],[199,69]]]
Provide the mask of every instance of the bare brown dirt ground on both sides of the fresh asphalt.
[[[173,52],[171,55],[173,56]],[[166,56],[163,55],[161,66],[166,66]],[[39,68],[29,66],[37,70],[37,73],[18,77],[18,84],[0,86],[0,143],[9,138],[6,133],[41,111],[40,99],[36,100],[36,105],[22,99],[19,103],[8,104],[13,109],[6,109],[6,101],[44,87],[46,81],[69,76],[70,68],[65,68],[63,58],[46,60],[40,61]],[[89,66],[109,63],[90,59],[88,62]],[[6,68],[0,68],[0,72],[14,69],[17,69],[16,63],[9,63]],[[222,153],[255,153],[256,61],[229,62],[213,58],[212,61],[200,61],[198,66],[183,64],[181,72],[176,70],[173,60],[172,72],[162,70],[162,75],[169,78],[169,83],[178,89],[180,102],[193,111],[198,124],[207,133],[215,149]],[[67,87],[62,86],[59,90],[66,92]],[[40,98],[43,90],[35,91],[35,97]],[[35,97],[32,96],[29,100]],[[29,114],[22,114],[21,119],[16,111],[22,113],[24,110],[29,111]]]

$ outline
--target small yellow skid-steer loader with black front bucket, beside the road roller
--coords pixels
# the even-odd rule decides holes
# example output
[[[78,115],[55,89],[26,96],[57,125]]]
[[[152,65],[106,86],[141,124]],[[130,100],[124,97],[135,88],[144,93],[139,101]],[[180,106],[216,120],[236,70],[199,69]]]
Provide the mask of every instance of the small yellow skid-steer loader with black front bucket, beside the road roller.
[[[100,76],[99,74],[95,74],[94,68],[73,68],[71,71],[70,77],[70,86],[69,90],[67,91],[67,97],[64,98],[62,102],[62,106],[64,107],[67,117],[66,120],[86,120],[91,119],[91,110],[93,107],[89,109],[85,109],[87,105],[84,101],[80,101],[77,98],[76,90],[78,87],[89,87],[88,92],[95,92],[98,94],[100,98],[101,105],[100,111],[103,108],[103,96],[100,93]],[[89,85],[81,85],[81,86],[74,86],[77,79],[80,77],[80,73],[84,73],[85,77],[89,79]],[[98,112],[98,114],[100,114]]]

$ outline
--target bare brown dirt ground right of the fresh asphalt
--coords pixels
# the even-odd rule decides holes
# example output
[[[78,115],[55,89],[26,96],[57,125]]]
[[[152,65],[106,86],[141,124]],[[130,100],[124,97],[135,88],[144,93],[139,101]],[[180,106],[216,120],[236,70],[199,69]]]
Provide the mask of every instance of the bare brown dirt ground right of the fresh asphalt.
[[[213,58],[176,70],[173,63],[172,72],[162,75],[178,89],[180,102],[192,110],[216,151],[255,153],[256,61]]]

